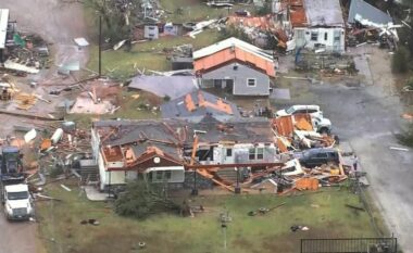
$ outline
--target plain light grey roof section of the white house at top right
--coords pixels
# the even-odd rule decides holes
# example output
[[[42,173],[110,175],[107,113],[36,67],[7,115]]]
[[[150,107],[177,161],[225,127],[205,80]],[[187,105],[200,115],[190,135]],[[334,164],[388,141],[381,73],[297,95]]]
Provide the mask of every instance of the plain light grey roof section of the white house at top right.
[[[339,0],[304,0],[309,26],[345,27]]]

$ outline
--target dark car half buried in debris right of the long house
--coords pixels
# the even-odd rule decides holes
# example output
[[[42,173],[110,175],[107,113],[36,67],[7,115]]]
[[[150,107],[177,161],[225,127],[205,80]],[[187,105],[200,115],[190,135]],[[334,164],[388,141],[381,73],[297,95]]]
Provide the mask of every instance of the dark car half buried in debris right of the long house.
[[[293,156],[300,161],[302,166],[309,168],[327,163],[338,164],[340,162],[338,151],[329,148],[309,149],[302,152],[296,152],[293,153]]]

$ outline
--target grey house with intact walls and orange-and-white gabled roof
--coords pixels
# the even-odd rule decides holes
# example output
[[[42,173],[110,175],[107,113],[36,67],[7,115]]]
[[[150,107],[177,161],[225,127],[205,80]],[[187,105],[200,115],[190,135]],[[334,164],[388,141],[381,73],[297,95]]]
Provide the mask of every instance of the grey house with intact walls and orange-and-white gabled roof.
[[[275,77],[273,55],[236,38],[195,51],[193,67],[200,87],[235,96],[268,96]]]

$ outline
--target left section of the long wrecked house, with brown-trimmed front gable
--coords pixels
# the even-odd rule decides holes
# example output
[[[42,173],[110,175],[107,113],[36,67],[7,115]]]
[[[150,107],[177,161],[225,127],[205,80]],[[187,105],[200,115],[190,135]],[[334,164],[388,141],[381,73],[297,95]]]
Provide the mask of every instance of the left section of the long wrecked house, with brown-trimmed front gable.
[[[180,150],[170,140],[166,121],[100,121],[93,123],[91,147],[99,167],[100,190],[123,186],[145,175],[152,182],[184,182]]]

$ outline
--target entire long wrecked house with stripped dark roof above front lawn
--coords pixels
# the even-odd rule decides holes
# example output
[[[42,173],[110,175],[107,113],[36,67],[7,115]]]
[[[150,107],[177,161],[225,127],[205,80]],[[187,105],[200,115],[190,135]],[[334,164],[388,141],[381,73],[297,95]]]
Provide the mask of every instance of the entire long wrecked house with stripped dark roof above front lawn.
[[[227,165],[234,172],[278,161],[266,118],[100,121],[93,123],[91,144],[101,191],[138,177],[184,187],[192,178],[186,177],[190,164],[216,169]]]

